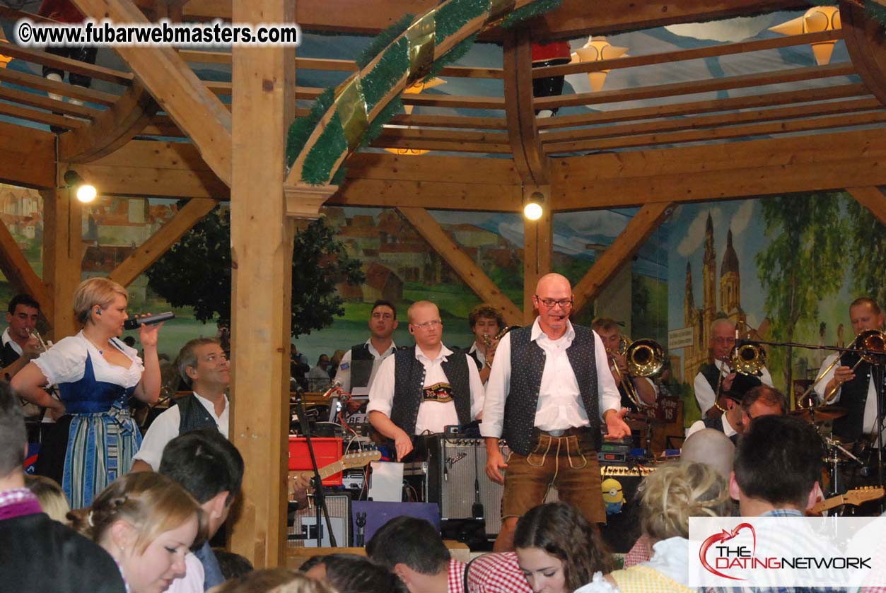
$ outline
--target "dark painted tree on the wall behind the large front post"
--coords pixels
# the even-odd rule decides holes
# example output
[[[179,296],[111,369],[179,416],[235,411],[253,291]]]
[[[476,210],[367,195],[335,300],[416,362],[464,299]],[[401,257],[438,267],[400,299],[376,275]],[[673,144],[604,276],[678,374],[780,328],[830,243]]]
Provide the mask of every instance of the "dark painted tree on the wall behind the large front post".
[[[255,237],[261,241],[261,237]],[[207,214],[148,268],[148,286],[175,307],[191,306],[200,321],[230,323],[230,219],[219,209]],[[349,258],[323,219],[295,234],[292,252],[293,337],[310,334],[344,314],[336,284],[365,280],[360,262]]]

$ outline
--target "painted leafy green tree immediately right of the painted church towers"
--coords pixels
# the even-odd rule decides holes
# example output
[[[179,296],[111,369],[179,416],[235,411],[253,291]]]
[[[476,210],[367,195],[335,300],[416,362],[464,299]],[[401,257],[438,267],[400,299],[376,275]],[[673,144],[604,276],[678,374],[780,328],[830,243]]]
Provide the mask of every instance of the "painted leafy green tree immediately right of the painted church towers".
[[[834,194],[761,201],[766,235],[772,241],[757,254],[756,261],[775,341],[793,342],[798,329],[813,327],[821,298],[834,294],[843,284],[846,226],[841,203]],[[770,360],[773,370],[783,370],[784,388],[790,395],[792,349],[773,348]]]

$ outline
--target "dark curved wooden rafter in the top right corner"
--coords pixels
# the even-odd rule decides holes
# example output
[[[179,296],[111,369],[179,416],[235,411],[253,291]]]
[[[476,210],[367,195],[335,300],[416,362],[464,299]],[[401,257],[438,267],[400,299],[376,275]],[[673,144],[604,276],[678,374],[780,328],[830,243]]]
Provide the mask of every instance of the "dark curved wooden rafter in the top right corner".
[[[886,105],[886,30],[865,9],[840,2],[846,50],[867,89]]]

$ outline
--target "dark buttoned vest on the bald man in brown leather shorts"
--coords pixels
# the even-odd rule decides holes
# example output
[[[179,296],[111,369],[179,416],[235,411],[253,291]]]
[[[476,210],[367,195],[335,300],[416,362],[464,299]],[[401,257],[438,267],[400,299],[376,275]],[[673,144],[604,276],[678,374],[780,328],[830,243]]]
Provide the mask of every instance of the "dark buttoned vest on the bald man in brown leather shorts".
[[[595,449],[600,449],[600,411],[597,402],[597,365],[594,332],[588,327],[573,325],[575,339],[566,349],[566,356],[579,383],[581,403],[590,422],[588,435]],[[541,374],[545,369],[545,351],[532,341],[532,326],[511,331],[510,389],[504,404],[504,426],[501,436],[511,451],[520,455],[532,452],[532,427],[539,402]],[[566,428],[566,427],[562,427]]]

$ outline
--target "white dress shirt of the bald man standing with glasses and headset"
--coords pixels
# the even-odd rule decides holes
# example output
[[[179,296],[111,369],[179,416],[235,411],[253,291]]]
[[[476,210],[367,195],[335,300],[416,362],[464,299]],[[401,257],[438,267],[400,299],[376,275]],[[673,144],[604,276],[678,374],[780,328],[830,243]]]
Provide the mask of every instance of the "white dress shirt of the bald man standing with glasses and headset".
[[[545,352],[545,368],[541,373],[539,401],[535,407],[535,427],[541,430],[563,430],[585,427],[587,420],[585,404],[581,402],[579,381],[575,378],[566,349],[575,339],[575,329],[566,321],[566,333],[551,340],[541,331],[539,320],[532,324],[531,340]],[[609,358],[600,336],[594,332],[594,356],[597,367],[597,407],[602,418],[608,410],[621,409],[621,396],[612,379]],[[489,381],[486,381],[486,404],[480,435],[501,437],[504,423],[504,404],[510,391],[510,334],[501,338],[495,350],[495,359]]]

